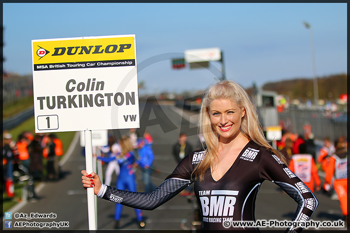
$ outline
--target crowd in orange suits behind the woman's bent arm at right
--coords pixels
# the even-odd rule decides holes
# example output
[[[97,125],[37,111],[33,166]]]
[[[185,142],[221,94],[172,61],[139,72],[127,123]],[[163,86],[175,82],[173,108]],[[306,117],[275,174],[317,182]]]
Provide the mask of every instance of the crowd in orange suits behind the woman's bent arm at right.
[[[311,191],[321,191],[332,200],[339,200],[347,221],[347,138],[338,137],[334,142],[323,139],[323,146],[316,150],[313,133],[304,136],[285,132],[278,141],[278,149],[288,158],[288,167]],[[324,177],[323,184],[319,174]]]

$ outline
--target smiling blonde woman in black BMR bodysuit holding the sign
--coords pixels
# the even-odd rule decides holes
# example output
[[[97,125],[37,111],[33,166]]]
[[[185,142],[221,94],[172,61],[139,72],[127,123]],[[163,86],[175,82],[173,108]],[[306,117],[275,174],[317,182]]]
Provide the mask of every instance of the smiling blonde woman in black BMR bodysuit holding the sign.
[[[83,186],[94,187],[95,194],[103,199],[110,200],[111,195],[116,195],[123,205],[152,210],[194,183],[203,230],[259,232],[256,227],[234,227],[232,222],[255,220],[257,192],[261,183],[269,180],[297,201],[291,221],[311,218],[318,205],[315,195],[288,169],[283,155],[268,144],[257,110],[240,85],[220,81],[208,89],[200,109],[199,133],[204,136],[207,149],[187,155],[151,193],[114,189],[85,170]],[[91,185],[90,179],[95,185]],[[293,225],[287,230],[303,230]]]

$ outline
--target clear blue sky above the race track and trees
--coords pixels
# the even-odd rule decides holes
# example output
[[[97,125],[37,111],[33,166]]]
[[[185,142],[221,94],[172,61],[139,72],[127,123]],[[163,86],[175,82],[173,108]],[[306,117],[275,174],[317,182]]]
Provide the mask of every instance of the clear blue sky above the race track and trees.
[[[32,73],[31,40],[135,34],[145,92],[202,90],[220,77],[171,68],[185,50],[219,47],[227,79],[250,87],[347,73],[347,3],[3,3],[3,68]]]

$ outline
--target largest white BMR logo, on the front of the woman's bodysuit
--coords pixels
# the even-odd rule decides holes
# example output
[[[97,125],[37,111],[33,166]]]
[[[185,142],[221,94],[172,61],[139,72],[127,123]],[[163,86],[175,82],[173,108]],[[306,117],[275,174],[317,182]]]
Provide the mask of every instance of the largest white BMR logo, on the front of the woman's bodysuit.
[[[200,197],[203,216],[233,216],[239,191],[212,190],[210,197]]]

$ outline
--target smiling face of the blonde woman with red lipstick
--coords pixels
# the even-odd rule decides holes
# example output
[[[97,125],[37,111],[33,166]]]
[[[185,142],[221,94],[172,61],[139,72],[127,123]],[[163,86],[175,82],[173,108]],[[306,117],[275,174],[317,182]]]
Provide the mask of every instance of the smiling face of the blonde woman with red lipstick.
[[[220,141],[234,139],[240,133],[245,111],[241,111],[237,103],[231,100],[212,100],[209,105],[209,116],[210,123],[219,134]]]

